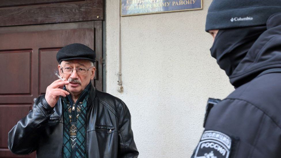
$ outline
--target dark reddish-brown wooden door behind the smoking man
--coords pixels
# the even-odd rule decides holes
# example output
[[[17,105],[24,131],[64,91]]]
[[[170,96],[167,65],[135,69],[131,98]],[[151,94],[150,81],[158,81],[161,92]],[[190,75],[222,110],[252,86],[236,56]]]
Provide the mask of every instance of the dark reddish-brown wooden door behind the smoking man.
[[[0,28],[0,157],[35,157],[12,154],[7,134],[57,79],[61,47],[82,43],[96,51],[98,71],[92,83],[102,90],[101,28],[101,21]]]

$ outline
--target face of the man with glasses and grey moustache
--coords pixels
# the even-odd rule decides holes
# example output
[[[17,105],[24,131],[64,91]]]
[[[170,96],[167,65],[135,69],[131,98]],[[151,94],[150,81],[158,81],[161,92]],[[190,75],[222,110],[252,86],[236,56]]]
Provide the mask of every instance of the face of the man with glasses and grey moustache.
[[[64,74],[60,68],[62,67],[70,67],[73,68],[71,74]],[[75,68],[90,68],[86,75],[79,75]],[[77,59],[77,60],[66,60],[62,61],[60,65],[58,65],[58,70],[60,72],[60,76],[65,78],[67,81],[70,81],[68,85],[65,85],[67,90],[73,95],[79,95],[89,84],[91,79],[94,79],[95,75],[95,67],[92,67],[92,63],[90,60]]]

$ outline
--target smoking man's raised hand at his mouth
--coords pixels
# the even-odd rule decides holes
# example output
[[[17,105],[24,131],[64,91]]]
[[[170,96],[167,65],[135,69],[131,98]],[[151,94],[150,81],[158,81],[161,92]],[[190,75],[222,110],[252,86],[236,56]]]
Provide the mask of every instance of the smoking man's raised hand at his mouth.
[[[69,92],[61,89],[63,85],[67,84],[69,84],[69,81],[62,81],[58,79],[47,87],[45,99],[52,108],[55,106],[60,96],[66,97],[69,95]]]

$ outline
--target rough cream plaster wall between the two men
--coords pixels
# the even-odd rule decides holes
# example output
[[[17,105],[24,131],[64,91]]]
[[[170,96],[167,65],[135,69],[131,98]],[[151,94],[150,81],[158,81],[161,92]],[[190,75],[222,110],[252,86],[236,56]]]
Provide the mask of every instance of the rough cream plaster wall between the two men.
[[[106,90],[130,109],[141,158],[190,157],[208,98],[234,90],[210,56],[210,2],[203,10],[120,17],[120,1],[106,1]],[[119,62],[123,93],[116,90]]]

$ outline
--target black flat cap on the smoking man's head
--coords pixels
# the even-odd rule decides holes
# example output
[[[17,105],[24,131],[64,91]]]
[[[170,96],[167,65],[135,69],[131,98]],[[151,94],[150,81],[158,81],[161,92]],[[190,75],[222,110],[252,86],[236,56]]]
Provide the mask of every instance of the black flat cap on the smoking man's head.
[[[96,61],[96,52],[86,45],[73,43],[62,47],[57,53],[57,61],[61,63],[64,60],[87,59]]]

